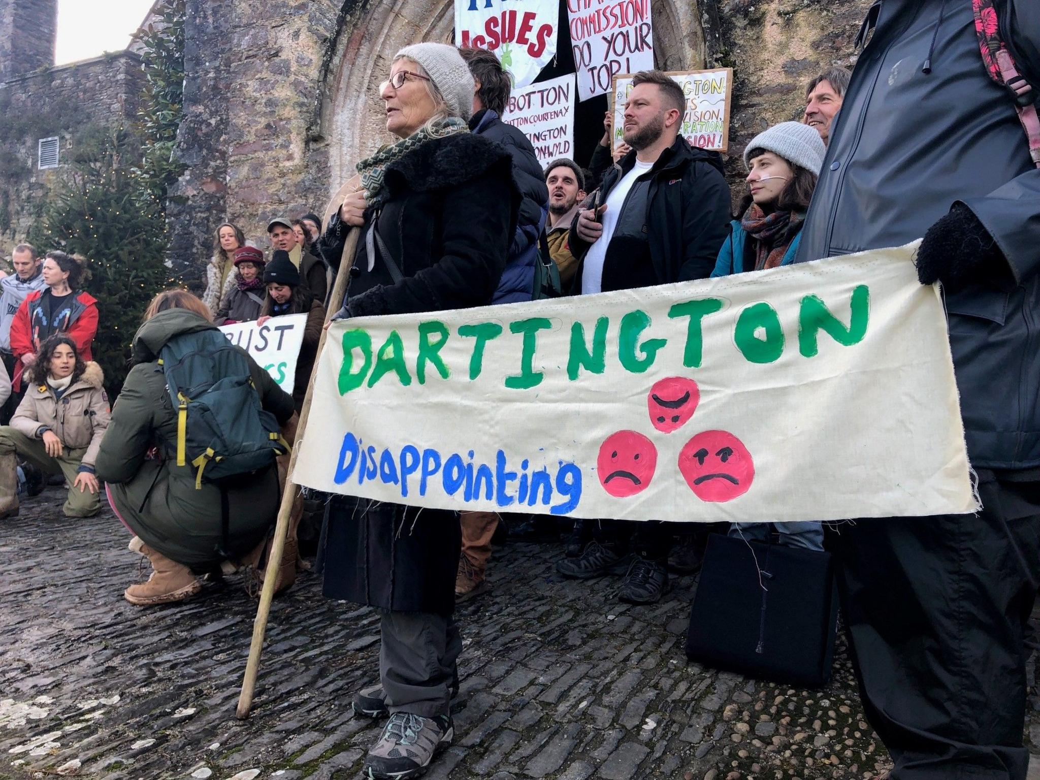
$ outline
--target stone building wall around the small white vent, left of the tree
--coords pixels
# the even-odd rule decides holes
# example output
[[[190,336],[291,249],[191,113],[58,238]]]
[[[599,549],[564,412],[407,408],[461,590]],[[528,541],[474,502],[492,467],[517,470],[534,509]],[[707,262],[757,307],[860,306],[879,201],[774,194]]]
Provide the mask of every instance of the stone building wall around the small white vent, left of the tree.
[[[0,257],[8,258],[63,167],[38,170],[37,144],[58,136],[59,162],[87,124],[132,121],[137,113],[144,74],[140,57],[108,54],[0,83]]]

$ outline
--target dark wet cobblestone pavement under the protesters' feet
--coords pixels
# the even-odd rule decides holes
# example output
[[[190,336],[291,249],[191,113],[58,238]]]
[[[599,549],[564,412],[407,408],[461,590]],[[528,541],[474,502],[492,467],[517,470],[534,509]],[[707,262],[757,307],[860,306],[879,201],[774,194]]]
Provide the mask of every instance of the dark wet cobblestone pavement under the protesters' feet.
[[[355,778],[379,726],[349,698],[376,677],[378,619],[302,575],[276,599],[254,711],[234,717],[256,601],[231,577],[139,609],[109,514],[60,517],[59,491],[0,523],[0,778]],[[464,708],[430,778],[868,778],[887,756],[844,642],[800,691],[687,664],[696,582],[631,607],[616,580],[561,581],[560,546],[512,544],[459,610]],[[1032,702],[1033,710],[1040,708]],[[1040,743],[1040,717],[1032,725]]]

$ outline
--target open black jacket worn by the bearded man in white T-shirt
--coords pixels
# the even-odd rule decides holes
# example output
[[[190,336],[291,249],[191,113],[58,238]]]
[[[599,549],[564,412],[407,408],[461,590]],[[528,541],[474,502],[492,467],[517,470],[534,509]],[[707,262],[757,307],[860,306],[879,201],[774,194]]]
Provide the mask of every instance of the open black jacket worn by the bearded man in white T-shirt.
[[[610,190],[634,165],[635,152],[629,152],[607,168],[600,185],[600,203],[606,202]],[[643,230],[650,265],[646,265],[645,255],[633,256],[625,246],[612,242],[603,262],[603,292],[706,279],[729,234],[729,185],[718,152],[695,149],[679,136],[647,176],[651,182]],[[591,200],[592,196],[586,206]],[[571,224],[569,237],[571,253],[579,262],[575,292],[581,289],[584,257],[591,246],[578,237],[577,218]]]

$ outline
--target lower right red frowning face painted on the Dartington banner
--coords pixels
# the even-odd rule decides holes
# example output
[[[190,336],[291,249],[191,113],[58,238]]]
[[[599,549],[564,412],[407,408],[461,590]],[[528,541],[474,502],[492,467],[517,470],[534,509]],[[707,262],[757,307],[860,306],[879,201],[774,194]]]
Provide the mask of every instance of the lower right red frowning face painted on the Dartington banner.
[[[732,434],[705,431],[683,445],[679,471],[702,501],[729,501],[748,492],[755,478],[755,463]]]

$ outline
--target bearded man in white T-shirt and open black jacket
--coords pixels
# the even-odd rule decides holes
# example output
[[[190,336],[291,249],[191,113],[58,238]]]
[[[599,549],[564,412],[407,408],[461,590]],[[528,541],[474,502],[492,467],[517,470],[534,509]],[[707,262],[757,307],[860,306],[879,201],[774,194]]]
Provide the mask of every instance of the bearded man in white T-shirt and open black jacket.
[[[718,152],[694,149],[679,136],[685,110],[682,89],[660,71],[632,79],[624,114],[624,140],[632,151],[606,171],[571,230],[571,252],[579,263],[575,292],[711,274],[727,236],[729,185]],[[579,579],[625,574],[622,601],[660,599],[668,587],[672,532],[667,524],[602,521],[595,536],[580,556],[561,561],[556,570]]]

